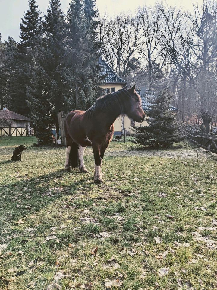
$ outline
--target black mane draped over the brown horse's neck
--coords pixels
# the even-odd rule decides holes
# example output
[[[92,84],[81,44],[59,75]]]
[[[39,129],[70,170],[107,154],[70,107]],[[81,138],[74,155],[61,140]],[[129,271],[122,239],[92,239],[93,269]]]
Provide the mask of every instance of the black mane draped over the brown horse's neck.
[[[123,98],[124,96],[124,98]],[[130,92],[127,89],[120,89],[116,92],[113,92],[111,94],[107,94],[105,96],[102,96],[98,98],[93,104],[92,107],[90,107],[90,111],[105,111],[109,109],[119,108],[121,111],[121,114],[124,113],[124,104],[126,101],[126,98],[132,98]]]

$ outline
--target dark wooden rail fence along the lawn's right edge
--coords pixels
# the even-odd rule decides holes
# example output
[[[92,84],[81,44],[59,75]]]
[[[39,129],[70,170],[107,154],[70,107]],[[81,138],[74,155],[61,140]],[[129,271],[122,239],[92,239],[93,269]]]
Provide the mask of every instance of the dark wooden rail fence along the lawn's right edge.
[[[206,149],[207,151],[211,148],[211,152],[217,153],[217,136],[203,133],[193,133],[187,131],[187,137],[193,143],[196,143],[200,147]]]

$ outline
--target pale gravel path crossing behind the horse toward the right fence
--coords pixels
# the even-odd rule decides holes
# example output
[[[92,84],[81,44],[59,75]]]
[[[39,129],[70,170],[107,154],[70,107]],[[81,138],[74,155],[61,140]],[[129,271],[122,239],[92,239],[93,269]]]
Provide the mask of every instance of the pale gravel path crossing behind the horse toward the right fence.
[[[207,154],[203,148],[191,148],[191,149],[176,149],[176,150],[107,150],[105,151],[107,156],[141,156],[141,157],[163,157],[174,159],[216,159],[217,154]]]

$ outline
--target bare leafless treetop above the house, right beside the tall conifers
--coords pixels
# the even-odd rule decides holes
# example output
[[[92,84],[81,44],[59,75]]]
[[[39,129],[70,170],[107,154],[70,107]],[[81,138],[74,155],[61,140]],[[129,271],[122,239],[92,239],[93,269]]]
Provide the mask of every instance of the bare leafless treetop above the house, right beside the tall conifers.
[[[142,58],[142,35],[136,16],[121,14],[110,20],[101,18],[99,41],[106,62],[122,78],[137,69]]]

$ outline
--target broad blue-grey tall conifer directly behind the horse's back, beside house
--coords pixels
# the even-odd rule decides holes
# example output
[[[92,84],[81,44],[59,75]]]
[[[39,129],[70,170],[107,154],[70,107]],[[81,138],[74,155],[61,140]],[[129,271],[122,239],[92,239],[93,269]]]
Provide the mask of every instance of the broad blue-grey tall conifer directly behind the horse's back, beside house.
[[[73,0],[67,13],[66,54],[68,106],[87,109],[99,96],[99,58],[94,2]]]

